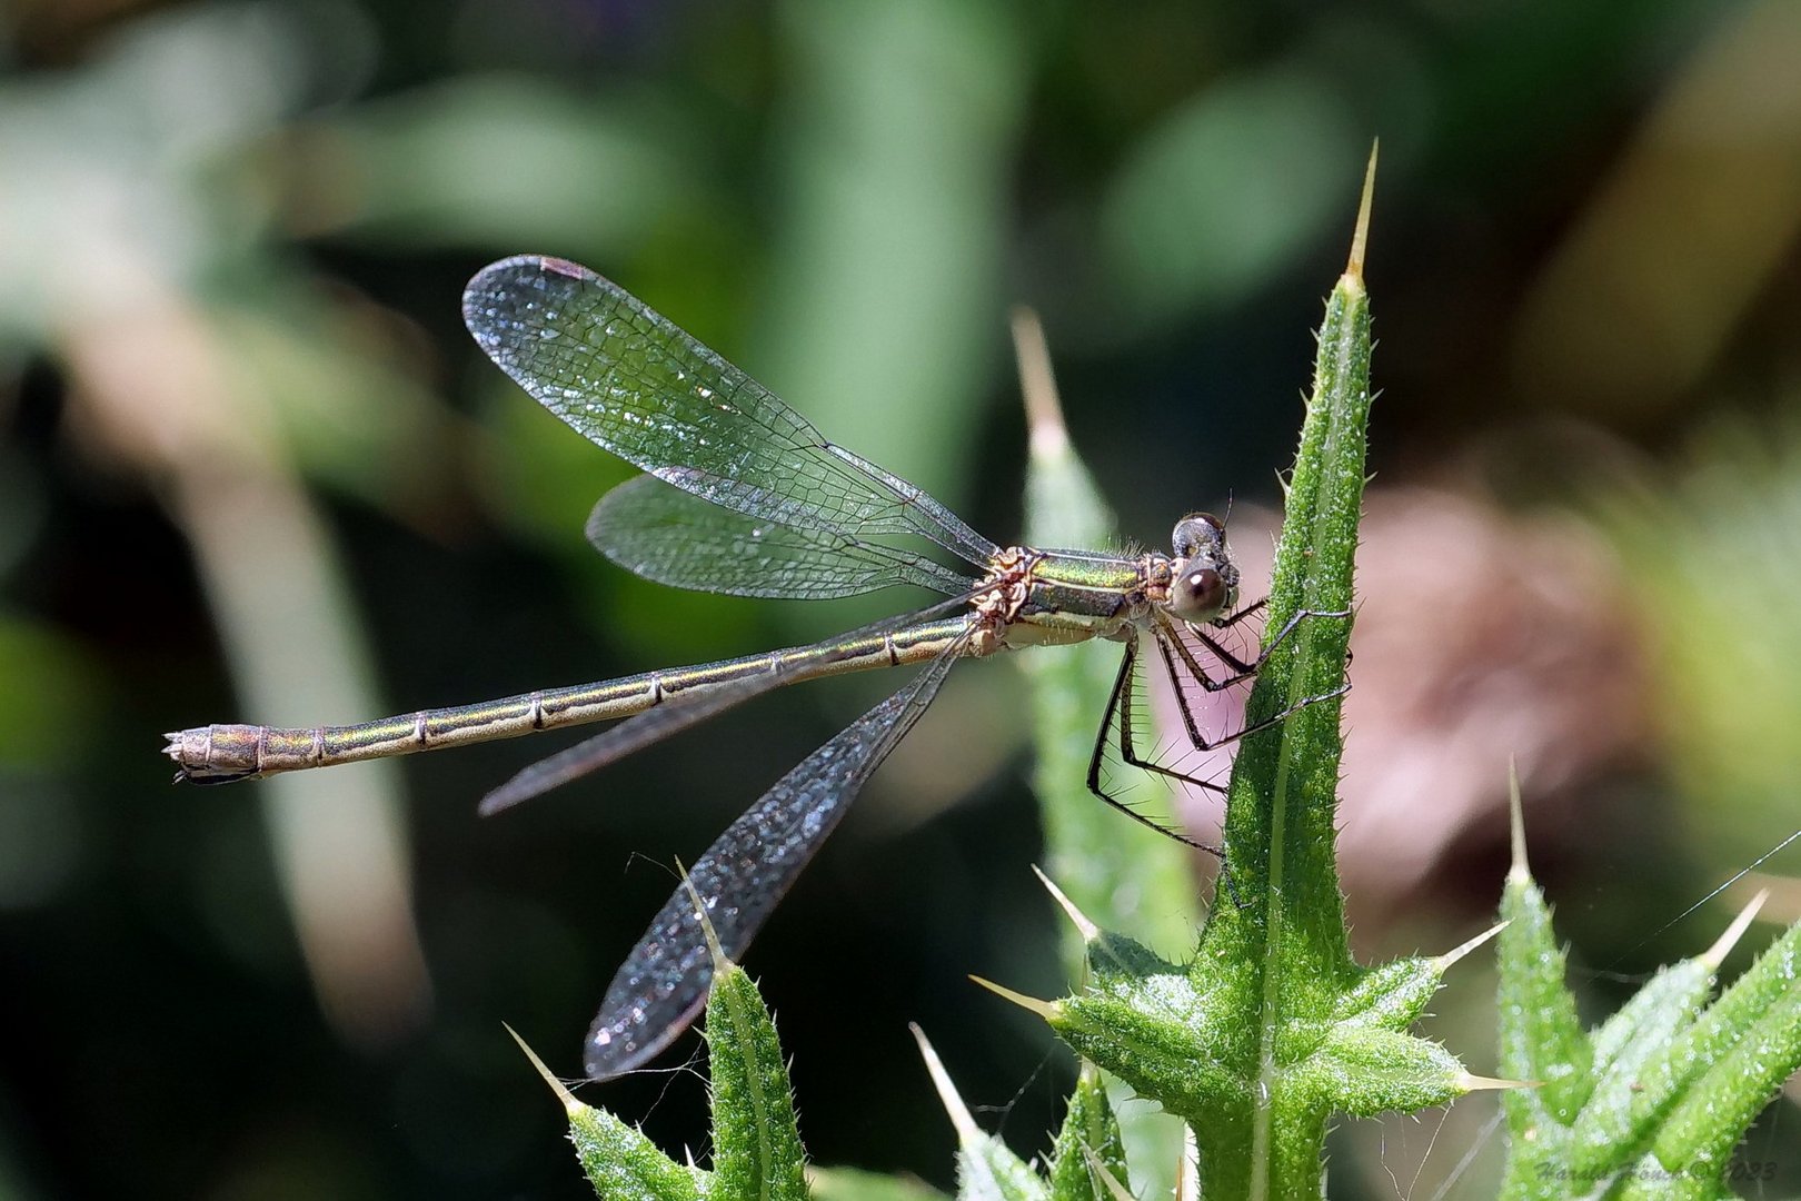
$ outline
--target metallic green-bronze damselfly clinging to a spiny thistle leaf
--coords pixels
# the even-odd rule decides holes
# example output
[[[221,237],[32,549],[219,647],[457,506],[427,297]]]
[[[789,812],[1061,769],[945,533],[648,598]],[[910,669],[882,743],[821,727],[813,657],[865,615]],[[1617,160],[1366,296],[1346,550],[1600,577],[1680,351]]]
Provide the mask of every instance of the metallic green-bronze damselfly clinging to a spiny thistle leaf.
[[[1216,517],[1176,522],[1167,555],[1000,547],[899,475],[823,439],[755,380],[584,266],[502,259],[470,281],[463,319],[546,409],[648,472],[609,492],[587,524],[589,540],[621,567],[737,596],[836,598],[911,583],[947,598],[812,646],[704,666],[357,726],[202,726],[169,735],[166,751],[180,780],[223,783],[630,717],[490,792],[483,812],[495,812],[771,688],[926,664],[783,776],[695,861],[607,990],[587,1037],[589,1077],[629,1071],[686,1028],[711,983],[706,926],[728,956],[744,953],[958,659],[1095,637],[1124,643],[1088,785],[1138,821],[1147,819],[1102,787],[1113,727],[1127,763],[1185,778],[1133,744],[1142,646],[1154,648],[1172,679],[1207,691],[1244,681],[1261,664],[1216,636],[1255,609],[1235,607],[1237,567]],[[1281,720],[1208,740],[1183,690],[1176,693],[1199,749]]]

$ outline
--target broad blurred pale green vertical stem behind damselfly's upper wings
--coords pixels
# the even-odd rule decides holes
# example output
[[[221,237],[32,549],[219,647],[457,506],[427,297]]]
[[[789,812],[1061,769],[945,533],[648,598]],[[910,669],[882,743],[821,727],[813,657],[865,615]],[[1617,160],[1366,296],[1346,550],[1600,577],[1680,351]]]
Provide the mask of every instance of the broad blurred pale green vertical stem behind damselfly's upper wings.
[[[758,378],[951,502],[969,483],[1025,61],[1012,11],[789,0]]]

